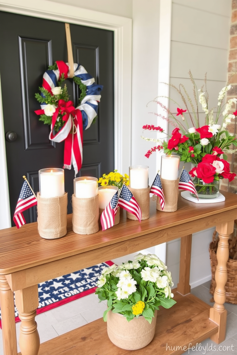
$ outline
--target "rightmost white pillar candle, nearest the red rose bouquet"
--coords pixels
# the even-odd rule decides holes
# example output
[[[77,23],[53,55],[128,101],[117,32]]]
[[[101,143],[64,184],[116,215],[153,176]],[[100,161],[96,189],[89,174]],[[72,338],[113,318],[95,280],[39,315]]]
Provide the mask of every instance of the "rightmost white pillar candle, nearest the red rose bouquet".
[[[179,155],[161,156],[161,178],[165,180],[177,180],[179,172]]]

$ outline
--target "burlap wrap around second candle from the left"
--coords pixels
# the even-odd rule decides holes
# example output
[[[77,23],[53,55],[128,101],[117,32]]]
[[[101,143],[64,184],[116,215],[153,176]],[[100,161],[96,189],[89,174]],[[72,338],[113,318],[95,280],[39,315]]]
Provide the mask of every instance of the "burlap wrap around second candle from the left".
[[[72,230],[93,234],[99,230],[99,197],[77,198],[72,195]]]

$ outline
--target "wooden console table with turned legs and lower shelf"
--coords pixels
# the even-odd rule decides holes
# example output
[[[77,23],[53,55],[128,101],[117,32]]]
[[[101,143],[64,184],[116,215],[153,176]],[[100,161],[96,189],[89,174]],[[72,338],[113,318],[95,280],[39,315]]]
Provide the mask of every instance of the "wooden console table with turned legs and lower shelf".
[[[37,223],[0,230],[0,306],[4,355],[16,355],[15,301],[21,319],[19,344],[22,355],[124,355],[129,351],[113,345],[102,319],[63,334],[40,345],[35,322],[38,283],[93,266],[105,260],[181,238],[179,284],[174,290],[177,304],[158,312],[156,334],[145,348],[133,354],[182,354],[184,346],[206,338],[220,343],[225,339],[225,283],[227,280],[228,237],[237,218],[237,197],[222,192],[225,202],[194,204],[179,196],[176,212],[156,210],[151,201],[150,218],[141,223],[126,219],[113,228],[91,235],[72,231],[61,239],[45,240],[38,235]],[[192,233],[216,226],[220,241],[217,250],[215,304],[210,308],[190,294],[189,272]],[[201,261],[200,261],[201,262]],[[184,350],[183,350],[184,349]]]

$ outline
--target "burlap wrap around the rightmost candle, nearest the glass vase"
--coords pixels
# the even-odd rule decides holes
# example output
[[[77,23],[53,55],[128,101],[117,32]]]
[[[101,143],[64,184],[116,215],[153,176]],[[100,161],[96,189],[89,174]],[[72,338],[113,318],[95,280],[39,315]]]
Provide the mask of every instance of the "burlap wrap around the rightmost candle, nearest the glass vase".
[[[166,180],[161,178],[162,189],[165,197],[165,206],[162,210],[160,205],[160,197],[157,196],[156,209],[163,212],[177,211],[178,196],[179,196],[179,179]]]

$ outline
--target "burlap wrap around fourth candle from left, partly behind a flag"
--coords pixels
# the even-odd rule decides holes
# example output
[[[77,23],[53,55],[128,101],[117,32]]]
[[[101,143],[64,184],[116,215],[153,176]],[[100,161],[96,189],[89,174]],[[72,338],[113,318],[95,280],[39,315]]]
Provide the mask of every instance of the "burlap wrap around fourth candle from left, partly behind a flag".
[[[141,208],[141,219],[148,219],[150,217],[150,186],[147,189],[132,189],[128,186],[128,189]],[[126,211],[126,216],[129,219],[138,220],[133,213],[128,211]]]

